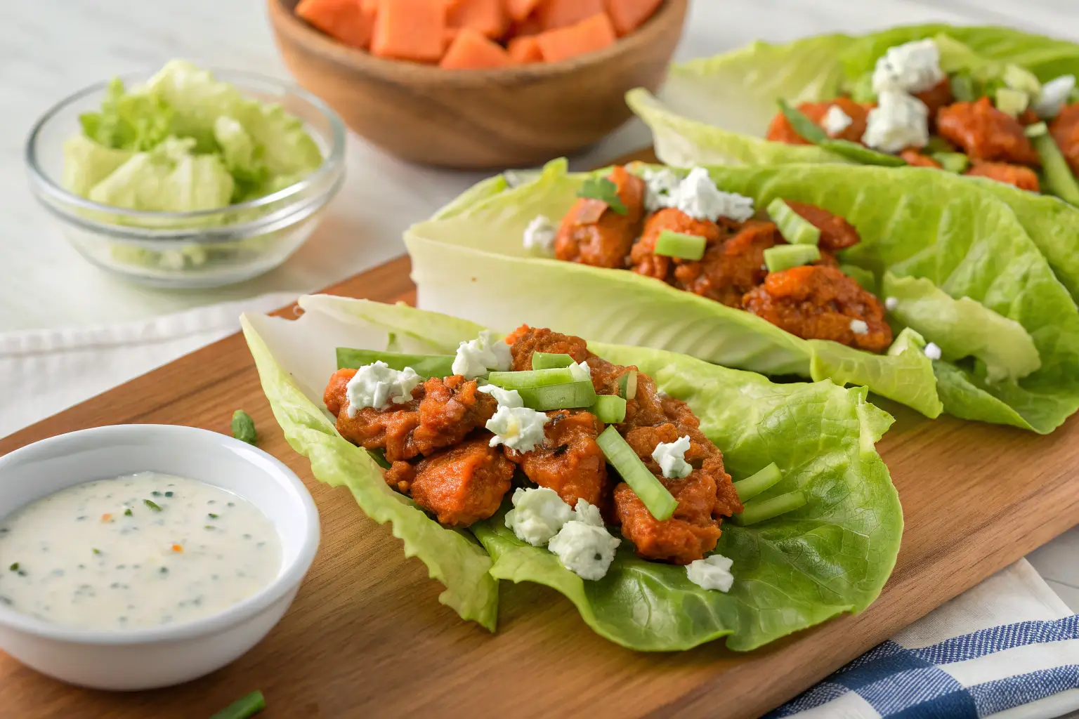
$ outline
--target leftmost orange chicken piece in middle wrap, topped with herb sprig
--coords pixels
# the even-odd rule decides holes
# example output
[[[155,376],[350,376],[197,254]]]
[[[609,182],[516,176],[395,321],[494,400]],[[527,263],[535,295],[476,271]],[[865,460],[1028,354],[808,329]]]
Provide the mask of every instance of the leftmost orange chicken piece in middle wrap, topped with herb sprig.
[[[615,212],[600,199],[578,197],[562,218],[555,238],[555,257],[597,267],[625,267],[633,240],[641,232],[644,215],[644,180],[625,167],[607,176],[618,189],[626,215]]]

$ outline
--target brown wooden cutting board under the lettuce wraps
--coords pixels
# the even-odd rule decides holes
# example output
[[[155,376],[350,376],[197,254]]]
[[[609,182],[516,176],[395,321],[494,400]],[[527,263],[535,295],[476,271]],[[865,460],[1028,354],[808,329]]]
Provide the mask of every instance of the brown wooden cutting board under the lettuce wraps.
[[[328,291],[411,302],[408,274],[400,258]],[[502,583],[496,634],[438,604],[441,585],[404,557],[388,526],[368,520],[347,489],[316,482],[288,447],[243,338],[231,336],[0,440],[0,455],[98,425],[229,432],[233,411],[246,410],[259,446],[304,480],[322,515],[322,549],[291,610],[230,666],[160,691],[72,688],[0,653],[0,716],[189,719],[261,689],[268,719],[756,717],[1079,521],[1076,417],[1038,437],[882,406],[897,418],[878,448],[906,526],[876,603],[750,654],[722,642],[644,654],[592,634],[566,599],[533,584]]]

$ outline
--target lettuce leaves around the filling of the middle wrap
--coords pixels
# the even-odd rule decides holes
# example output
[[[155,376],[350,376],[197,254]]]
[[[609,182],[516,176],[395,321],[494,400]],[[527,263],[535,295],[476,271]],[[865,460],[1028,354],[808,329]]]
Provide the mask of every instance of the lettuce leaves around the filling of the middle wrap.
[[[524,227],[537,215],[561,218],[589,177],[568,172],[563,161],[532,182],[459,205],[452,217],[413,225],[406,245],[419,305],[501,331],[525,321],[763,374],[863,385],[929,417],[943,406],[1044,433],[1079,407],[1079,310],[1015,213],[976,184],[942,190],[943,172],[846,165],[710,174],[757,208],[783,197],[846,218],[862,243],[841,260],[873,273],[899,302],[897,326],[927,335],[943,359],[801,340],[656,279],[533,254],[521,243]]]

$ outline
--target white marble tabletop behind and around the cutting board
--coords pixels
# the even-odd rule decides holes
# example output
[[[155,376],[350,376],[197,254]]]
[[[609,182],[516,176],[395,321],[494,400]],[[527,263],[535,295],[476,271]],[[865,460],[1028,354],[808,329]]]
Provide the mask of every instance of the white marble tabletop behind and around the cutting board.
[[[349,180],[313,238],[285,266],[211,292],[123,284],[85,263],[30,196],[23,143],[53,102],[93,82],[172,57],[287,78],[259,0],[4,2],[0,20],[0,332],[151,317],[199,304],[329,285],[404,251],[400,233],[479,178],[406,165],[350,138]],[[677,57],[752,39],[786,41],[943,20],[1000,24],[1079,40],[1076,0],[694,0]],[[630,123],[587,155],[596,164],[647,144]],[[2,401],[2,400],[0,400]],[[1016,480],[1019,481],[1019,480]],[[1079,609],[1079,531],[1030,561]]]

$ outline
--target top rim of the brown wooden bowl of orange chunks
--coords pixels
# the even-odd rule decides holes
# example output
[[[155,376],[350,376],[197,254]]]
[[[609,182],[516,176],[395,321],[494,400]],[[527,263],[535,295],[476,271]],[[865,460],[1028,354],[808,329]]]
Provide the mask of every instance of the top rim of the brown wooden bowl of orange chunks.
[[[663,0],[663,3],[643,25],[629,34],[596,52],[570,57],[556,63],[531,63],[502,68],[447,70],[437,65],[425,65],[410,60],[394,60],[375,57],[367,51],[351,47],[315,29],[297,17],[286,0],[267,0],[270,22],[276,30],[277,44],[281,34],[301,45],[306,52],[347,66],[361,74],[377,75],[393,82],[423,82],[449,87],[476,87],[501,83],[540,82],[551,78],[571,75],[590,66],[600,65],[623,54],[632,53],[664,33],[669,23],[684,25],[688,0]],[[680,32],[681,34],[681,32]]]

